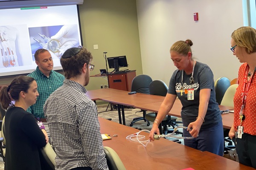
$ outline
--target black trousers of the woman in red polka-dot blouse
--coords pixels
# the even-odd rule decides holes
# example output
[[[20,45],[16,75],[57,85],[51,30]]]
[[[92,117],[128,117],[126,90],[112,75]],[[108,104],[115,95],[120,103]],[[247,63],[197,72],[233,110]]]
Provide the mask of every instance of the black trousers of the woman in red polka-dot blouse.
[[[244,133],[242,139],[233,137],[239,163],[256,168],[256,136]]]

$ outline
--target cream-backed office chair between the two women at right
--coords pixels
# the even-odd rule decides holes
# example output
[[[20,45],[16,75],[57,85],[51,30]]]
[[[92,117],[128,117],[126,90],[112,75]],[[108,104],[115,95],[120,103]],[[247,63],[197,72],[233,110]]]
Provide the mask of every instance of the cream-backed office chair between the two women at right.
[[[222,101],[221,101],[221,105],[234,107],[233,99],[234,99],[234,96],[235,96],[236,88],[237,88],[237,87],[238,87],[237,84],[233,84],[233,85],[230,85],[229,88],[227,88],[227,91],[225,92],[225,94],[224,94],[224,96],[223,96],[223,99],[222,99]],[[230,129],[223,128],[223,132],[224,132],[224,141],[228,142],[228,146],[227,146],[227,147],[224,146],[224,151],[227,151],[227,150],[231,150],[231,149],[236,148],[236,147],[233,145],[232,140],[231,140],[230,137],[228,136],[229,131],[230,131]],[[226,138],[226,137],[227,137],[227,138]]]

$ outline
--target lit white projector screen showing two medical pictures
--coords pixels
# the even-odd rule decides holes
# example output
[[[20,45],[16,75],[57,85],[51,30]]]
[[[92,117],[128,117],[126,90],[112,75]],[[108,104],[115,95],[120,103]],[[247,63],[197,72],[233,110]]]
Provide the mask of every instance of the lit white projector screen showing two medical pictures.
[[[76,5],[1,9],[0,77],[34,71],[39,48],[52,55],[53,70],[61,70],[61,54],[82,45],[79,24]]]

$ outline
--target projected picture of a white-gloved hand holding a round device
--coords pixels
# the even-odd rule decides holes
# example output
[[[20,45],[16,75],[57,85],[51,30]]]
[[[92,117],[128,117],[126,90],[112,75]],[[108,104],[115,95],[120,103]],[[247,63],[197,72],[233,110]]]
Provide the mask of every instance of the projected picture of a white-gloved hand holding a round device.
[[[47,49],[52,59],[58,59],[68,48],[79,46],[77,24],[29,28],[29,39],[33,61],[39,48]]]

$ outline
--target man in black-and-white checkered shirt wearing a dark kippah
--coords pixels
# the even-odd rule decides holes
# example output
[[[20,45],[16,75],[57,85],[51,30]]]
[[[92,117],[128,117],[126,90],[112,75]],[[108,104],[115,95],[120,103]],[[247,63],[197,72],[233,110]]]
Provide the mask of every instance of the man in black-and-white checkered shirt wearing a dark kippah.
[[[92,59],[86,48],[67,49],[61,57],[66,79],[44,104],[55,170],[108,170],[97,107],[84,88],[94,67]]]

